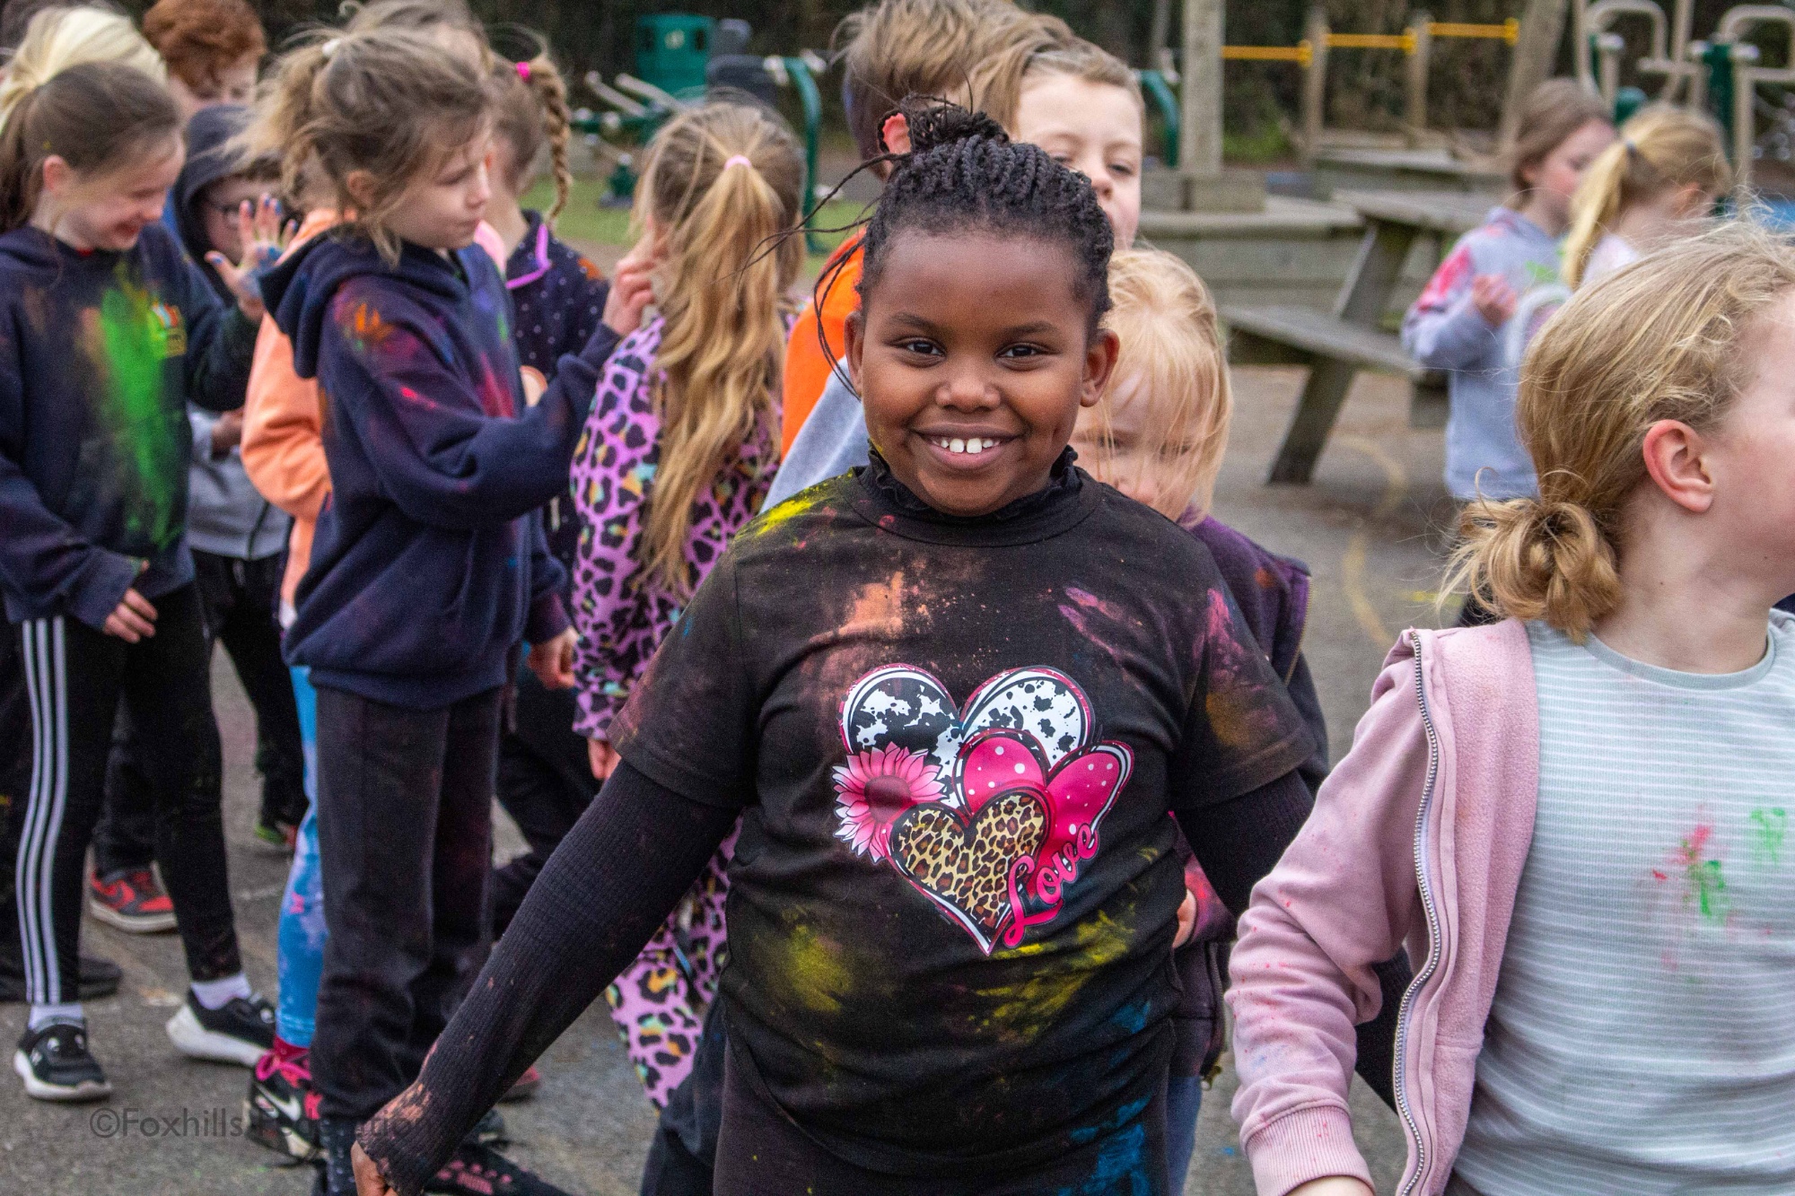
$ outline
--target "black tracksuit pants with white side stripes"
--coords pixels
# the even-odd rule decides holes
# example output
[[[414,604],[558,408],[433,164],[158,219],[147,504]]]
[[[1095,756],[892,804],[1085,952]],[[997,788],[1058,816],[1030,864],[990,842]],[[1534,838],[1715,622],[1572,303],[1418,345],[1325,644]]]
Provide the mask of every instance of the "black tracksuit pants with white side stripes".
[[[156,634],[138,643],[66,618],[13,629],[31,708],[32,769],[14,810],[14,900],[34,1004],[79,993],[86,853],[106,785],[120,700],[140,731],[154,794],[154,855],[174,901],[187,972],[242,972],[230,907],[221,812],[219,733],[212,720],[205,620],[194,585],[151,600]]]

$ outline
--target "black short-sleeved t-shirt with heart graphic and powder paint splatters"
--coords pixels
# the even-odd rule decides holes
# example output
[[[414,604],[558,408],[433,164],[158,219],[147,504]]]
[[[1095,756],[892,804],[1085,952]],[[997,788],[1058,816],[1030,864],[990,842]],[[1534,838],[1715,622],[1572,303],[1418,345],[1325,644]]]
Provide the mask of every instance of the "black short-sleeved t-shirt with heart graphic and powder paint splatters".
[[[745,808],[738,1065],[899,1174],[1027,1165],[1138,1113],[1178,1000],[1167,812],[1310,751],[1208,550],[1070,456],[982,519],[878,458],[766,512],[612,742]]]

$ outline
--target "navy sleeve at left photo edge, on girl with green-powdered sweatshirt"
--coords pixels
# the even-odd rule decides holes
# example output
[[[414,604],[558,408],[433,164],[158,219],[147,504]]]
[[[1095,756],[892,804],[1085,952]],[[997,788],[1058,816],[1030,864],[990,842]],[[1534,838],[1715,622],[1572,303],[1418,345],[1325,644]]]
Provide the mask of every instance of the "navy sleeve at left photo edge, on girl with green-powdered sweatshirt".
[[[20,467],[25,460],[25,388],[20,368],[18,312],[5,312],[0,343],[0,578],[22,594],[59,594],[88,627],[104,627],[138,562],[77,533],[50,512]]]

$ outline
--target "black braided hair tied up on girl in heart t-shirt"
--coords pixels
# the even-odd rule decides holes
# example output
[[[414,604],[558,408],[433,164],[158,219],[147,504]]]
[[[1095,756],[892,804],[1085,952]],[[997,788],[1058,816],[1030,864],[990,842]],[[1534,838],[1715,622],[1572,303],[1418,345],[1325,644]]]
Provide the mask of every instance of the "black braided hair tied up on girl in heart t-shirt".
[[[878,287],[892,237],[901,230],[1057,241],[1077,262],[1073,295],[1090,303],[1095,332],[1109,311],[1115,235],[1090,180],[1038,145],[1011,142],[980,111],[914,95],[898,111],[910,124],[912,151],[876,160],[896,169],[863,233],[860,295]]]

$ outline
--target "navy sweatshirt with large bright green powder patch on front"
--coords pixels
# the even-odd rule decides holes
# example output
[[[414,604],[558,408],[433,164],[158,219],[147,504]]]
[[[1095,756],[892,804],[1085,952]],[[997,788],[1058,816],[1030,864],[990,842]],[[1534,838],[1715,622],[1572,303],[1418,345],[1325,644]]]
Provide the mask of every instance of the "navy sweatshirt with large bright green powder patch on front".
[[[194,578],[187,402],[242,406],[255,325],[162,224],[122,253],[0,235],[0,587],[104,627]]]

